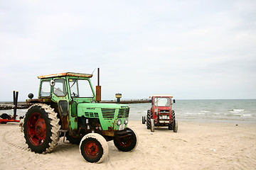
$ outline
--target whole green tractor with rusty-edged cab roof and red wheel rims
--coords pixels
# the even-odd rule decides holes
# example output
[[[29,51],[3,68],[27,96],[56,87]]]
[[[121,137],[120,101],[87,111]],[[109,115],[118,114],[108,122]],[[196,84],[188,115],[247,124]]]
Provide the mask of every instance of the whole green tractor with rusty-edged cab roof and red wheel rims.
[[[127,128],[129,106],[100,103],[101,86],[96,86],[95,94],[91,77],[72,72],[38,77],[38,98],[28,94],[26,102],[31,106],[23,123],[24,137],[32,152],[52,152],[62,136],[80,145],[87,162],[102,162],[110,140],[122,152],[137,147],[136,132]]]

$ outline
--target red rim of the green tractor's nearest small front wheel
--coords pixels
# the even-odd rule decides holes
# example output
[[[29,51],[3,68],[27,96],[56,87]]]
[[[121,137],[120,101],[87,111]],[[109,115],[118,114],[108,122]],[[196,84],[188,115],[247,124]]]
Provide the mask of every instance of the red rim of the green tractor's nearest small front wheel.
[[[100,146],[95,141],[88,141],[85,144],[85,154],[87,157],[95,159],[100,154]]]

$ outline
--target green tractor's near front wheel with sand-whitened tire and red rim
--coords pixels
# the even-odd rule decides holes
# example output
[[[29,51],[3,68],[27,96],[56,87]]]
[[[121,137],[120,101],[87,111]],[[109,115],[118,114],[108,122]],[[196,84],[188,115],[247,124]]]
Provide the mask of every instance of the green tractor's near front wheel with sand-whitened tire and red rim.
[[[79,148],[82,157],[92,163],[103,162],[109,151],[107,140],[97,133],[89,133],[82,137]]]

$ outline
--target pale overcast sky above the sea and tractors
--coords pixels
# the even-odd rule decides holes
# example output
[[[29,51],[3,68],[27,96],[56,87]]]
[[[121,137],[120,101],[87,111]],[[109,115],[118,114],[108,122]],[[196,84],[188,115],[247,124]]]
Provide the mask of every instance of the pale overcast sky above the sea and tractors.
[[[102,99],[256,98],[256,1],[0,0],[0,59],[0,101],[97,67]]]

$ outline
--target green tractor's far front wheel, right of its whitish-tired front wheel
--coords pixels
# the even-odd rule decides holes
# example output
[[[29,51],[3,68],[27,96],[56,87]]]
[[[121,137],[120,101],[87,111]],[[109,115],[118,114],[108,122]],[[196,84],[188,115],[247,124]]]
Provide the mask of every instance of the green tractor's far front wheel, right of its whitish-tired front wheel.
[[[131,128],[127,128],[127,130],[131,130],[130,136],[122,137],[119,139],[114,139],[114,146],[117,147],[122,152],[132,152],[138,145],[138,135]]]

